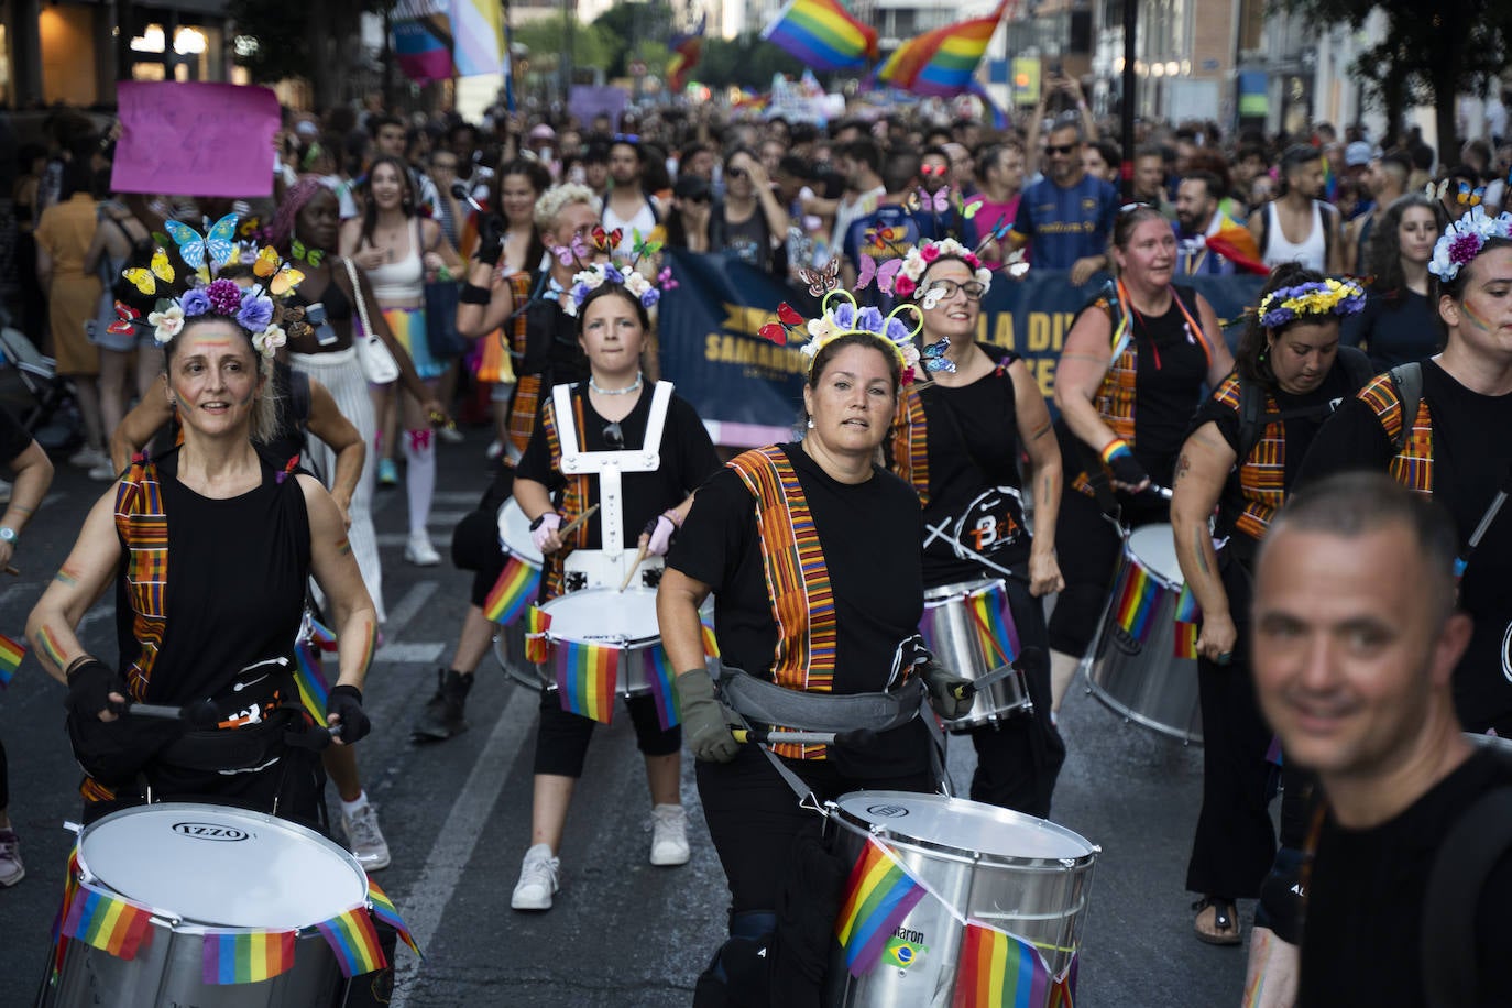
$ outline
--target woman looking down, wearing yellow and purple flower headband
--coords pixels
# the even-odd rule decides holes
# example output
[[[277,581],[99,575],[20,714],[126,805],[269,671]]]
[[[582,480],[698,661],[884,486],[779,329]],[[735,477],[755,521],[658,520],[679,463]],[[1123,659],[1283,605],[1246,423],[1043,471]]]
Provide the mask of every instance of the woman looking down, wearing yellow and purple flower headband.
[[[1353,283],[1278,266],[1238,346],[1238,363],[1191,422],[1176,464],[1170,521],[1176,559],[1202,609],[1198,689],[1202,703],[1202,813],[1187,866],[1198,938],[1238,945],[1235,899],[1259,895],[1276,854],[1269,796],[1270,728],[1249,674],[1249,595],[1255,556],[1302,459],[1334,407],[1370,378],[1370,360],[1340,346],[1340,323],[1365,304]],[[1247,419],[1246,419],[1247,417]],[[1217,511],[1217,527],[1210,520]],[[1223,544],[1222,547],[1216,544]],[[1306,781],[1285,790],[1282,842],[1300,848]],[[1294,942],[1278,908],[1256,926]]]

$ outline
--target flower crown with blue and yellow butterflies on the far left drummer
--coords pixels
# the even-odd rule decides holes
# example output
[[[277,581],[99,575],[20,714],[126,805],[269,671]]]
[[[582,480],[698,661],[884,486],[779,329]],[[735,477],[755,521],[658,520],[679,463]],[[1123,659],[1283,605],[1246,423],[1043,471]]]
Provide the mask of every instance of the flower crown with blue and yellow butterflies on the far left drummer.
[[[189,319],[215,314],[246,329],[253,337],[253,348],[263,357],[272,357],[289,339],[280,322],[298,325],[304,317],[302,310],[283,311],[277,301],[286,298],[304,280],[304,274],[284,263],[271,245],[259,249],[254,243],[239,243],[234,213],[216,221],[206,234],[178,221],[166,221],[165,227],[177,243],[178,258],[189,267],[187,272],[180,275],[162,246],[153,251],[150,266],[121,272],[142,295],[165,295],[147,316],[157,345],[171,343]],[[230,264],[251,266],[256,283],[242,287],[234,280],[218,277]],[[172,295],[175,283],[186,284],[177,296]],[[141,313],[119,301],[115,310],[118,319],[109,329],[127,334],[135,331]]]

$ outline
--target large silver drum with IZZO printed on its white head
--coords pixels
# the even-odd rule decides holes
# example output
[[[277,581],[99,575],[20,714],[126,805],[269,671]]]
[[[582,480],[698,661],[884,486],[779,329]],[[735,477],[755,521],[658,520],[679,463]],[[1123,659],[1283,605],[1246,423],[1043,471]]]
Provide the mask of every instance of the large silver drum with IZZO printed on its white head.
[[[153,920],[130,961],[70,942],[45,1005],[330,1005],[342,970],[313,925],[367,899],[367,875],[331,840],[225,805],[160,802],[104,816],[79,836],[79,872],[150,907]],[[206,929],[298,929],[293,967],[256,984],[206,984]]]

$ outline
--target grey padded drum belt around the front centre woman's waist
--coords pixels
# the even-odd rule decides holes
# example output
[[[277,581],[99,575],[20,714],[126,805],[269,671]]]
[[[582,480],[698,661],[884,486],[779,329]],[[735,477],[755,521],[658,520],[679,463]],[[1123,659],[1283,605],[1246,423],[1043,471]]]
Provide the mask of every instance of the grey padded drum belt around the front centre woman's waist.
[[[930,657],[922,636],[915,633],[904,638],[892,654],[888,688],[880,692],[844,695],[800,692],[729,665],[720,666],[717,685],[724,706],[747,731],[751,730],[751,721],[803,725],[801,733],[804,734],[835,736],[857,730],[891,731],[919,716],[919,709],[924,706],[924,680],[910,677],[910,673],[915,666],[928,662]],[[930,733],[930,768],[934,778],[940,781],[940,792],[950,796],[956,787],[950,778],[950,769],[945,766],[945,731],[931,716],[925,716],[924,724]],[[835,744],[833,737],[806,741]],[[800,807],[812,809],[829,818],[829,810],[813,793],[813,789],[794,774],[770,745],[764,744],[761,751],[771,762],[777,775],[798,796]]]

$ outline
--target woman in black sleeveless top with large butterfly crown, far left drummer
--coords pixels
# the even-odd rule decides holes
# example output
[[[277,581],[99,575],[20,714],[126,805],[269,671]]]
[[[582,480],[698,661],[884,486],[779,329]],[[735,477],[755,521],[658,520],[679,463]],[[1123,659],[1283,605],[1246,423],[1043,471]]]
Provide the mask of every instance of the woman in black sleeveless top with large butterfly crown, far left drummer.
[[[295,744],[319,731],[299,707],[292,657],[311,576],[340,642],[328,721],[343,745],[369,728],[361,685],[378,620],[330,494],[257,449],[275,425],[272,355],[286,334],[262,286],[204,283],[233,248],[181,243],[197,286],[148,316],[181,446],[133,459],[27,623],[42,665],[68,685],[86,822],[147,801],[150,789],[156,801],[224,801],[325,831],[319,760]],[[76,627],[118,577],[112,668],[83,650]],[[187,725],[122,718],[133,703],[183,707]]]

